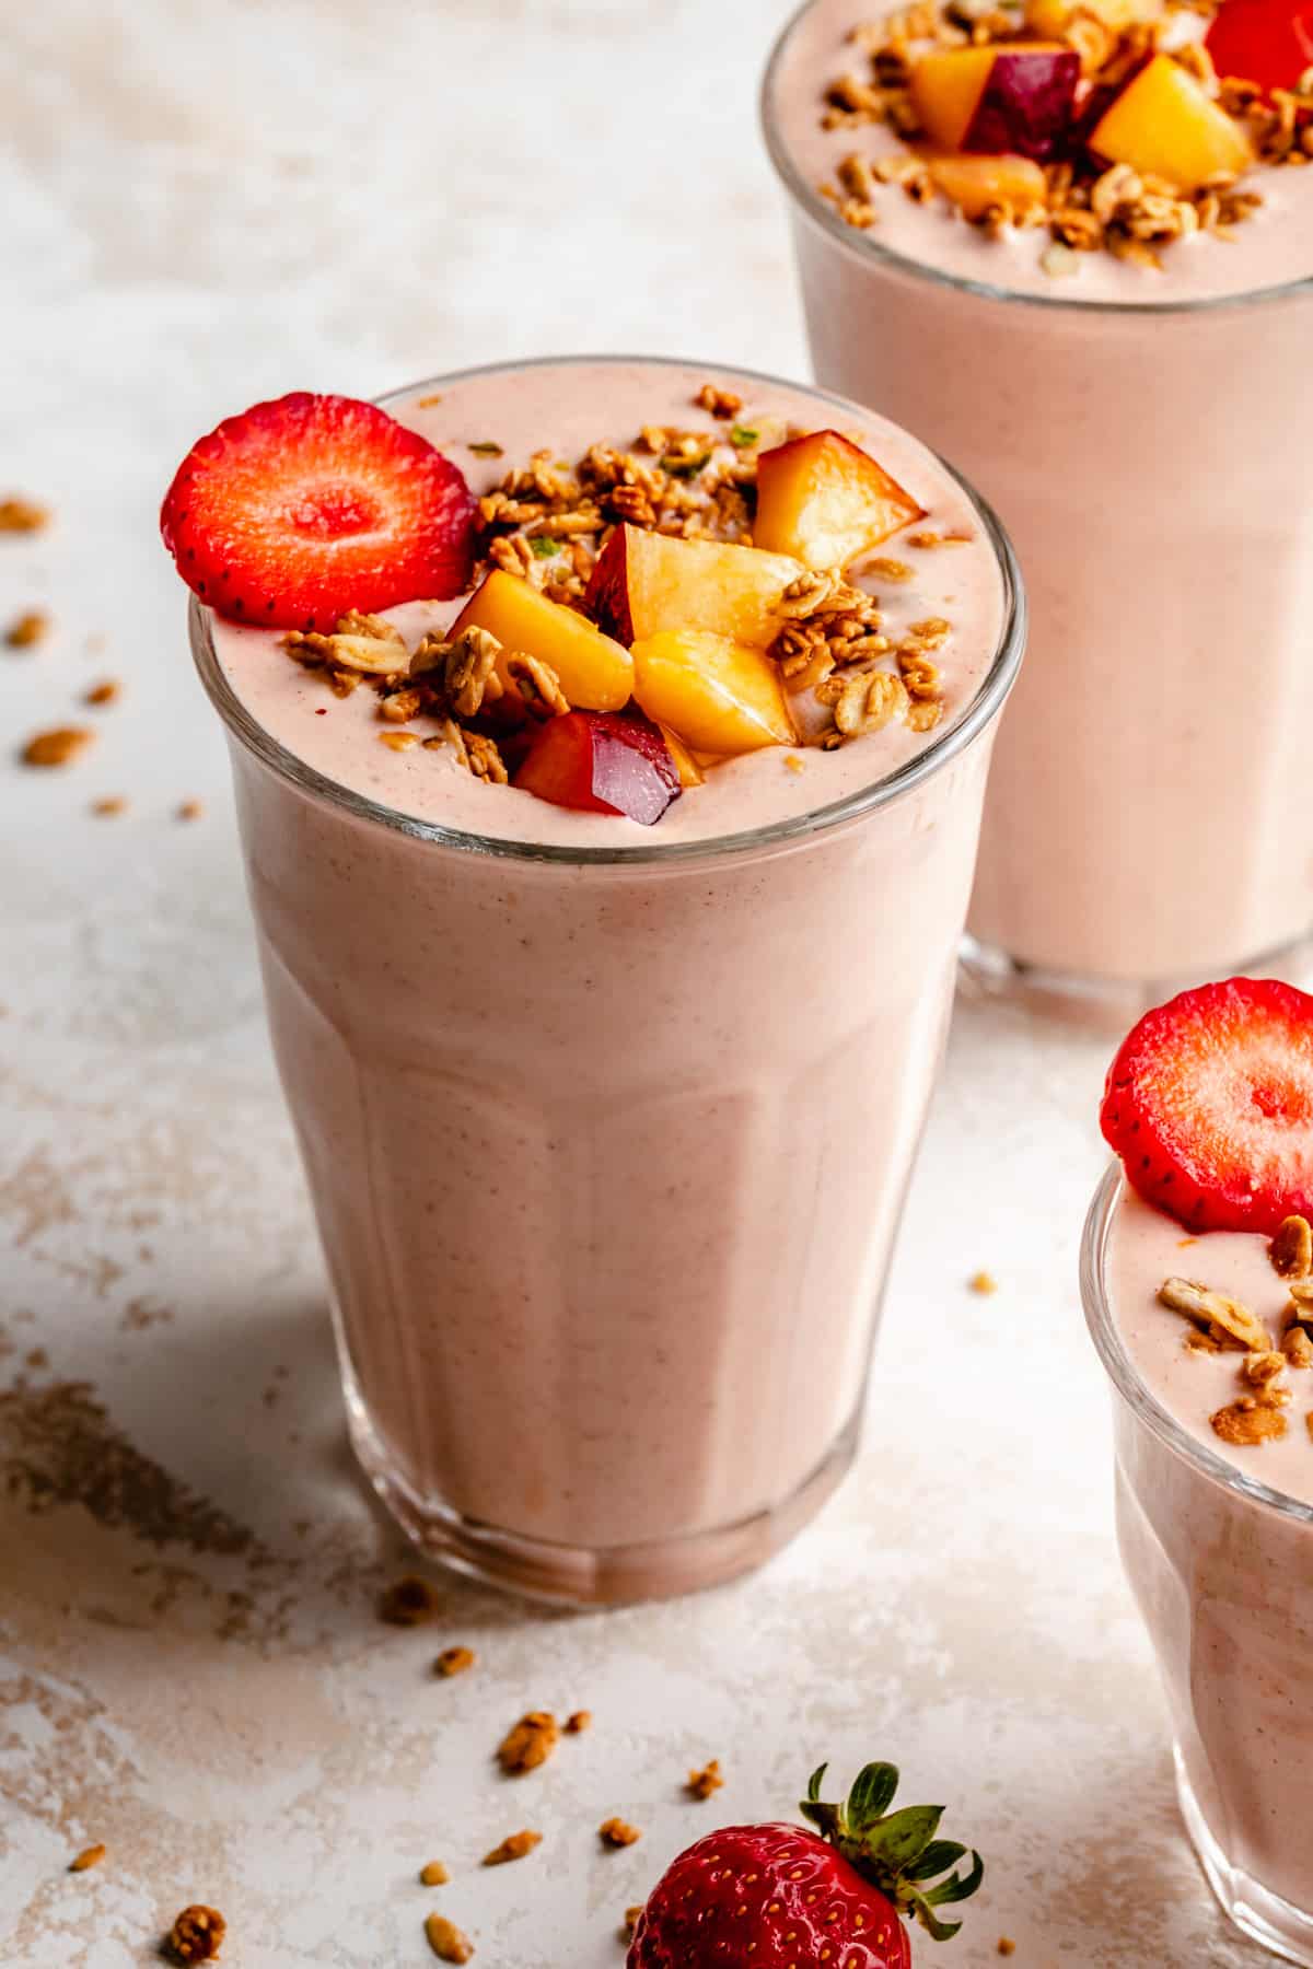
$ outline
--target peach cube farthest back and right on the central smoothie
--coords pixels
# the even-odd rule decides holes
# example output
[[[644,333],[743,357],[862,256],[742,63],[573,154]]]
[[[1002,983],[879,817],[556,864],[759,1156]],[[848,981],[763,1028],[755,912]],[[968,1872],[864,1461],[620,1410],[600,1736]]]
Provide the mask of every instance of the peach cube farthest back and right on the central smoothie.
[[[807,567],[846,567],[925,516],[882,465],[839,431],[764,451],[752,538]]]

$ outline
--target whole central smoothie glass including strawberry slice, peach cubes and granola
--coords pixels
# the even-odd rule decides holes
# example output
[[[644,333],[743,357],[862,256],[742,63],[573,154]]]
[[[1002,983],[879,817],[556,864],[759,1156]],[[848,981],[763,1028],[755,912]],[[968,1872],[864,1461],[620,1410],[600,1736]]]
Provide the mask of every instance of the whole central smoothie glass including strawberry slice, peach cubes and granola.
[[[766,376],[343,406],[220,425],[165,538],[352,1441],[469,1573],[709,1585],[854,1453],[1012,555],[906,431]]]

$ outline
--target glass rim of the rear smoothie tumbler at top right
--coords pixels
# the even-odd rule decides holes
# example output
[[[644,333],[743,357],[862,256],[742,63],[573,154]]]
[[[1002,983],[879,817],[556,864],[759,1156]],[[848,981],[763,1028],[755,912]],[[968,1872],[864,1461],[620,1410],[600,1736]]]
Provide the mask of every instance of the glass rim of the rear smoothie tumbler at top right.
[[[1313,274],[1299,274],[1295,280],[1276,282],[1272,287],[1246,287],[1242,293],[1197,295],[1187,301],[1079,301],[1061,293],[1026,293],[1020,287],[996,287],[988,280],[967,280],[963,274],[949,274],[945,268],[929,266],[925,260],[913,260],[911,254],[896,252],[870,232],[854,230],[813,189],[813,185],[807,183],[793,156],[793,148],[783,134],[783,118],[776,104],[776,85],[780,81],[793,33],[801,28],[803,20],[817,4],[819,0],[801,0],[801,6],[789,14],[787,22],[776,35],[776,43],[766,63],[766,73],[762,77],[758,112],[766,152],[776,167],[776,175],[793,199],[795,207],[817,226],[819,232],[825,232],[835,240],[835,244],[856,254],[858,260],[870,260],[876,266],[894,268],[900,274],[909,274],[913,280],[925,280],[935,287],[951,287],[955,293],[974,293],[982,301],[1002,301],[1012,307],[1049,307],[1073,315],[1213,315],[1232,307],[1260,307],[1272,301],[1289,301],[1299,293],[1313,295]]]

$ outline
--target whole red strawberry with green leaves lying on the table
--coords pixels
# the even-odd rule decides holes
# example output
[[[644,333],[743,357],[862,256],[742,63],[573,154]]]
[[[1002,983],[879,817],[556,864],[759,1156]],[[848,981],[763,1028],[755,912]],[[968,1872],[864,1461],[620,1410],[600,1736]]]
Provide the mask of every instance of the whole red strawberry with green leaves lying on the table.
[[[943,1806],[888,1811],[892,1764],[868,1764],[846,1806],[821,1804],[823,1778],[825,1764],[799,1808],[819,1837],[799,1825],[728,1825],[681,1853],[638,1916],[626,1969],[909,1969],[904,1912],[935,1941],[955,1936],[961,1922],[941,1922],[935,1908],[974,1894],[984,1867],[972,1853],[967,1873],[925,1884],[967,1857],[935,1839]]]

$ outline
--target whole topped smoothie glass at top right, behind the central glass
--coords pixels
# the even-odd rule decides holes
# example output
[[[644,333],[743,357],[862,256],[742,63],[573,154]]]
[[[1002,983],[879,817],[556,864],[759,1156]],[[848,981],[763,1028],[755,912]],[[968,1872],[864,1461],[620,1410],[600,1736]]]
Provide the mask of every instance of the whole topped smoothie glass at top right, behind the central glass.
[[[974,977],[1122,1018],[1226,971],[1295,975],[1303,0],[811,0],[764,116],[817,376],[959,461],[1026,569],[1035,654],[990,778]]]

